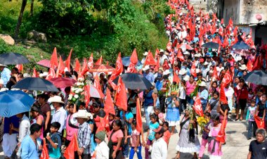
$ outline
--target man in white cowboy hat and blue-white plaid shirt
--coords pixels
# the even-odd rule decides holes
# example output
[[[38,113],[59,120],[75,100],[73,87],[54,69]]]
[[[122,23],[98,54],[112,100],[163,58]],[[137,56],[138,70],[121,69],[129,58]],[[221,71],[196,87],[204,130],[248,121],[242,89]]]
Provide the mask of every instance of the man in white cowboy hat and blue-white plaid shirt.
[[[91,113],[88,113],[86,110],[78,110],[77,113],[73,114],[73,117],[77,119],[79,123],[78,130],[78,155],[82,158],[91,158],[90,154],[90,143],[91,143],[91,127],[87,120],[91,117]],[[76,154],[77,155],[77,154]],[[75,156],[77,158],[78,156]]]

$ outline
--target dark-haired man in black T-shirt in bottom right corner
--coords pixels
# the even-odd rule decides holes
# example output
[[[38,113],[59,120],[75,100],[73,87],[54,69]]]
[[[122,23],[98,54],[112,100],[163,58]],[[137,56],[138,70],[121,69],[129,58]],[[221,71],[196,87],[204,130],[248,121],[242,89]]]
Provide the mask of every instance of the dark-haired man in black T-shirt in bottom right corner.
[[[256,140],[249,144],[249,153],[247,159],[263,159],[267,158],[267,141],[265,140],[265,129],[256,130]]]

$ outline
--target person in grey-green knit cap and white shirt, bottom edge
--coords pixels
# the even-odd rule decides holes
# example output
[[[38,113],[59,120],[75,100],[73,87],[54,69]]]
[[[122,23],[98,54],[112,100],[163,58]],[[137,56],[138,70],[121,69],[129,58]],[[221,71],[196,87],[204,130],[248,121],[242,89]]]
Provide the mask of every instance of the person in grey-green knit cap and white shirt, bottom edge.
[[[95,155],[96,159],[108,159],[110,155],[110,148],[108,148],[108,145],[105,144],[105,132],[100,131],[96,133],[96,149],[95,149]]]

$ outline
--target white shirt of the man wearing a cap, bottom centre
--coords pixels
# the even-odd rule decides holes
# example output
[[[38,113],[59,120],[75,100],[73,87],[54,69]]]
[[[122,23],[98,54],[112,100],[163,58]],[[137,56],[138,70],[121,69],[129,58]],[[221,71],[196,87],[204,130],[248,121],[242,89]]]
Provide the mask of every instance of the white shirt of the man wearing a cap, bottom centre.
[[[153,142],[149,151],[151,151],[151,158],[153,159],[166,159],[168,154],[167,143],[161,137]]]

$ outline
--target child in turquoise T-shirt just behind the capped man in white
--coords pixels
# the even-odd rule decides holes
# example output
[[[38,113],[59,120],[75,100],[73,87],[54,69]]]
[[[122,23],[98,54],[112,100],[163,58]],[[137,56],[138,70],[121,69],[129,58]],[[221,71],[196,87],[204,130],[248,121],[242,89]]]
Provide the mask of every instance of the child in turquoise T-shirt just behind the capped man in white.
[[[152,140],[155,139],[155,132],[154,129],[159,127],[159,122],[157,122],[157,115],[155,113],[150,115],[150,122],[149,122],[149,129],[148,129],[148,136],[146,137],[147,143],[146,145],[150,146],[152,144]],[[145,143],[143,143],[145,146]],[[148,148],[145,148],[145,159],[149,158]]]

